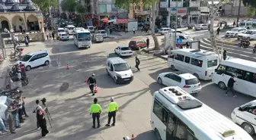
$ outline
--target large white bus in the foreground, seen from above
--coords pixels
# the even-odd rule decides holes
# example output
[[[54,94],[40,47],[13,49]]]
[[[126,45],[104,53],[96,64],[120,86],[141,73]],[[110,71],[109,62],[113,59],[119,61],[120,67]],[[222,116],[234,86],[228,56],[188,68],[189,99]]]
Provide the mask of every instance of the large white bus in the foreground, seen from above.
[[[149,122],[158,140],[253,140],[232,120],[178,86],[154,93]]]

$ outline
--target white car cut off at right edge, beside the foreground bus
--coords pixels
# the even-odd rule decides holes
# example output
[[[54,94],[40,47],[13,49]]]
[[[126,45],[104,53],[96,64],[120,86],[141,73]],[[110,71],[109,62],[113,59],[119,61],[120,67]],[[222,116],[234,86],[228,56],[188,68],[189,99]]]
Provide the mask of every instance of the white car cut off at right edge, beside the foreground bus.
[[[256,100],[243,104],[240,107],[236,107],[231,114],[232,121],[242,126],[242,128],[250,135],[254,135],[256,130],[255,109]]]

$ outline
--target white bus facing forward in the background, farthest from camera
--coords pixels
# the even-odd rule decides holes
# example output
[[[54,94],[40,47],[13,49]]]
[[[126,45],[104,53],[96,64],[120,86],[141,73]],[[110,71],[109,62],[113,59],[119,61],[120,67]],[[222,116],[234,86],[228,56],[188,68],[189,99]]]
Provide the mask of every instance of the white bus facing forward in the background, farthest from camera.
[[[91,47],[91,33],[89,30],[74,30],[74,42],[78,48]]]

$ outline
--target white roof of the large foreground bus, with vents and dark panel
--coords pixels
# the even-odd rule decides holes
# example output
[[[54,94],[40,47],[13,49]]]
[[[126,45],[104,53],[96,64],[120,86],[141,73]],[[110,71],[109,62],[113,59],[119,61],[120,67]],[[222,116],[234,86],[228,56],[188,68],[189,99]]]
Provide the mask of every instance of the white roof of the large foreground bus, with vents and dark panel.
[[[159,89],[154,93],[154,97],[189,126],[197,139],[227,140],[232,137],[233,139],[252,140],[251,135],[232,120],[222,116],[178,86]],[[226,135],[231,131],[233,131],[232,135]]]

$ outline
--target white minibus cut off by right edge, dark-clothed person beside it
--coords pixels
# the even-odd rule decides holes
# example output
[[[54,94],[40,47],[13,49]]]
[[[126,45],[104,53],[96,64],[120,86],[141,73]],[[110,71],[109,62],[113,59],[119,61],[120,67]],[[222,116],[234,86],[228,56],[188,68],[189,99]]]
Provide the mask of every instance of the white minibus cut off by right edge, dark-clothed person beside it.
[[[213,73],[212,81],[220,89],[226,89],[231,76],[235,76],[235,91],[256,97],[256,62],[239,58],[222,61]]]

